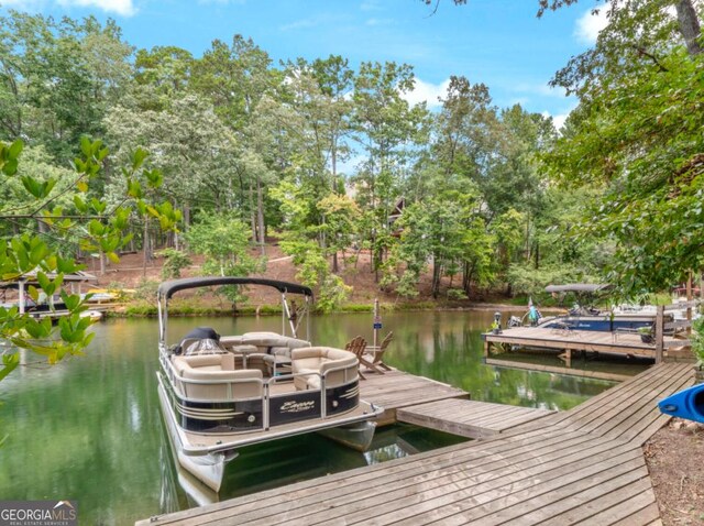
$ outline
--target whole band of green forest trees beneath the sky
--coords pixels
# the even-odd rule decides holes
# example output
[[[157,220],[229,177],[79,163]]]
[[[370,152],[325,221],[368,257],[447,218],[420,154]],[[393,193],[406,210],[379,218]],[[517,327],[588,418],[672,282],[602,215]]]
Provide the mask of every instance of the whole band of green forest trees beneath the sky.
[[[452,299],[575,281],[667,291],[704,266],[702,4],[601,9],[596,46],[552,79],[579,98],[560,130],[462,76],[438,110],[410,105],[409,64],[276,64],[238,34],[196,57],[138,50],[114,21],[9,11],[3,274],[18,254],[29,269],[143,250],[174,275],[189,254],[245,275],[263,265],[252,248],[276,240],[323,310],[344,302],[340,270],[362,250],[403,297],[426,273]]]

